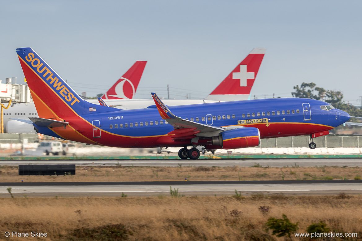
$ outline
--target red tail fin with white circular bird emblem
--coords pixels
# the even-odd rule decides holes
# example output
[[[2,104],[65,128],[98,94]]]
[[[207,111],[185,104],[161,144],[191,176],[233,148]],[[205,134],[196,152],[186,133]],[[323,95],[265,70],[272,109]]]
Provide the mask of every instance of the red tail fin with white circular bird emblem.
[[[147,61],[136,61],[132,67],[101,97],[103,100],[132,99]]]

